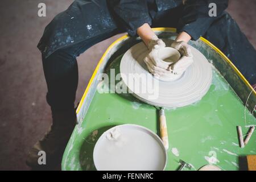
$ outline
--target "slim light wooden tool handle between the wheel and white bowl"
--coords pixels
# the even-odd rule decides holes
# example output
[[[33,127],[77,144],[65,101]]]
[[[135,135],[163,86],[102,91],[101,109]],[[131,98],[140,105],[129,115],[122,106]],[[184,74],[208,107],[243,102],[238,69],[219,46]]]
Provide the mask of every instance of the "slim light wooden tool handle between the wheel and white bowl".
[[[166,115],[164,114],[164,109],[161,108],[160,112],[160,137],[163,140],[164,148],[168,150],[169,141],[168,141],[168,133],[167,133],[167,125],[166,125]]]

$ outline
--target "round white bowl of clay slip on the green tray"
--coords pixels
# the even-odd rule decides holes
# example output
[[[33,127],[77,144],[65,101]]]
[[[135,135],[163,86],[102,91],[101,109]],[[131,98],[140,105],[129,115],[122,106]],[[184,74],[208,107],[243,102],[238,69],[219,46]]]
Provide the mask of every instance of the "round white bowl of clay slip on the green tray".
[[[93,161],[100,171],[160,171],[166,167],[167,153],[155,133],[126,124],[101,135],[93,150]]]

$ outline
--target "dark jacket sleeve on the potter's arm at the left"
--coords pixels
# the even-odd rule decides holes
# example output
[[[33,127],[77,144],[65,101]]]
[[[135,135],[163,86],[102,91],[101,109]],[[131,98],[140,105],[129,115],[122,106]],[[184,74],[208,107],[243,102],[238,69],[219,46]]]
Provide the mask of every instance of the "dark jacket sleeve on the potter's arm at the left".
[[[136,30],[144,23],[151,26],[146,0],[109,0],[110,8],[117,15],[121,26],[129,35],[136,35]]]

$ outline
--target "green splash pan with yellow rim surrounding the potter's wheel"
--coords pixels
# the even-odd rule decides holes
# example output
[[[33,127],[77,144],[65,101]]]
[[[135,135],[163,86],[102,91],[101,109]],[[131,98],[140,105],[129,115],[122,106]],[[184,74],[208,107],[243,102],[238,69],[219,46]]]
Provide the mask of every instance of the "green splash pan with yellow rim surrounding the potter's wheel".
[[[159,38],[175,39],[174,28],[153,30]],[[110,68],[115,68],[115,74],[119,73],[123,53],[139,42],[141,39],[125,35],[102,56],[77,108],[78,124],[65,148],[61,169],[96,170],[93,148],[101,134],[110,127],[131,123],[159,134],[159,115],[154,106],[144,104],[131,94],[97,91],[99,86],[102,87],[98,79],[101,73],[110,74]],[[180,166],[179,159],[191,164],[191,170],[209,163],[222,170],[244,169],[244,157],[256,154],[256,134],[245,148],[240,148],[236,126],[242,126],[246,135],[249,126],[256,125],[256,93],[228,57],[208,40],[200,38],[189,44],[199,49],[214,65],[213,81],[199,102],[166,109],[170,145],[166,170],[176,170]]]

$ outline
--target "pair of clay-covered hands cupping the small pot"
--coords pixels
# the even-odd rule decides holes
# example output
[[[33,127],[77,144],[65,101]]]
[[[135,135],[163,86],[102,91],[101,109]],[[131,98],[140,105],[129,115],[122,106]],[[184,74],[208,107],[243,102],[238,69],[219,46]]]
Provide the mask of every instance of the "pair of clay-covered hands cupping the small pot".
[[[148,71],[155,76],[182,74],[193,63],[192,53],[187,44],[191,36],[186,32],[181,32],[171,45],[181,54],[180,60],[171,66],[163,64],[163,61],[160,60],[158,56],[159,49],[166,47],[166,44],[163,40],[158,39],[158,36],[155,35],[147,23],[137,29],[137,34],[150,50],[150,53],[144,58],[144,63],[147,65]]]

